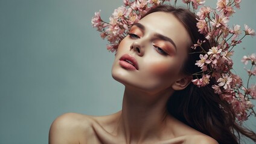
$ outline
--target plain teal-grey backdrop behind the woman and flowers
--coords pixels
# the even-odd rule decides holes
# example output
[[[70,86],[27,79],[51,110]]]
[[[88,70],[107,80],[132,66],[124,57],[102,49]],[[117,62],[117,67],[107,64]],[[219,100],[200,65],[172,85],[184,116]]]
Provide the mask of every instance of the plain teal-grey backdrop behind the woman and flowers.
[[[108,20],[121,4],[0,0],[1,144],[48,143],[51,122],[63,113],[109,115],[121,109],[124,88],[110,73],[114,54],[91,26],[95,11]],[[231,23],[256,29],[256,1],[244,0],[241,7]],[[256,52],[255,40],[247,37],[235,49],[234,68],[243,79],[240,59]],[[256,118],[246,125],[256,131]]]

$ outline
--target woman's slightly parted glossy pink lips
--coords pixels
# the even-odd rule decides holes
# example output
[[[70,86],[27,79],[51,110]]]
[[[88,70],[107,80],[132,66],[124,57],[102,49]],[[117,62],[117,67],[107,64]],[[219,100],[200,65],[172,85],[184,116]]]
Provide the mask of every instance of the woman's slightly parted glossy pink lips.
[[[138,70],[139,69],[138,63],[133,56],[125,54],[125,55],[121,56],[121,58],[119,60],[120,60],[119,64],[121,65],[121,67],[127,68],[129,70]]]

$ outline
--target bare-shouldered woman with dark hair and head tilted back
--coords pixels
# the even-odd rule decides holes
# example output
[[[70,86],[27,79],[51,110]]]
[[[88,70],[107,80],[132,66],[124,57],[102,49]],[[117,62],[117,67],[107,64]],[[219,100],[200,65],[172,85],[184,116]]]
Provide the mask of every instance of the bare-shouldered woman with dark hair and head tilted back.
[[[115,55],[112,76],[125,86],[123,109],[109,116],[62,115],[51,125],[49,143],[238,143],[234,131],[255,141],[214,94],[214,80],[201,88],[191,83],[200,53],[189,54],[190,47],[205,40],[196,23],[182,8],[149,11]]]

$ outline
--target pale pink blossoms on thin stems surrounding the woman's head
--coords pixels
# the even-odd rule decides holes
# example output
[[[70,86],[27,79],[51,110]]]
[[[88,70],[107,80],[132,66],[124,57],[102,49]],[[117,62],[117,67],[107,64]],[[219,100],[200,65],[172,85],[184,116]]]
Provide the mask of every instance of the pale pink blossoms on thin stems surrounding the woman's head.
[[[114,10],[112,16],[109,17],[109,22],[101,19],[100,11],[96,12],[92,17],[92,26],[101,32],[101,38],[107,38],[109,41],[107,50],[115,52],[133,23],[138,22],[150,9],[163,5],[167,1],[170,2],[170,0],[123,0],[124,6]],[[176,2],[177,0],[174,1],[174,6]],[[247,25],[245,25],[244,32],[240,25],[228,28],[229,17],[235,13],[234,8],[240,8],[241,0],[218,0],[216,8],[205,6],[204,0],[182,0],[182,2],[187,4],[188,8],[193,8],[194,13],[199,9],[196,13],[197,28],[211,44],[208,52],[202,48],[202,43],[205,43],[202,40],[198,40],[191,47],[202,49],[200,59],[195,64],[200,67],[201,71],[193,74],[197,79],[193,79],[192,82],[200,87],[208,85],[211,78],[216,79],[217,85],[212,86],[214,92],[219,94],[222,100],[231,104],[238,121],[243,122],[250,115],[256,116],[254,105],[251,103],[252,99],[256,99],[256,85],[249,86],[249,79],[256,75],[255,53],[243,56],[242,59],[244,64],[251,63],[251,68],[246,70],[249,75],[246,85],[238,75],[231,71],[233,48],[242,43],[246,35],[255,36],[255,31]],[[244,33],[243,37],[239,38],[242,33]]]

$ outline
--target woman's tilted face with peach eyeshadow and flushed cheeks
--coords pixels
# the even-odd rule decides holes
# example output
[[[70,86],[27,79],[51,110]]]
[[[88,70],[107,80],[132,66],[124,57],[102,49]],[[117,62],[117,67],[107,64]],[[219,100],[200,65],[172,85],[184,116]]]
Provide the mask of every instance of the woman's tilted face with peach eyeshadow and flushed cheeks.
[[[190,36],[173,14],[155,12],[132,26],[118,46],[112,76],[147,92],[170,90],[184,74]]]

